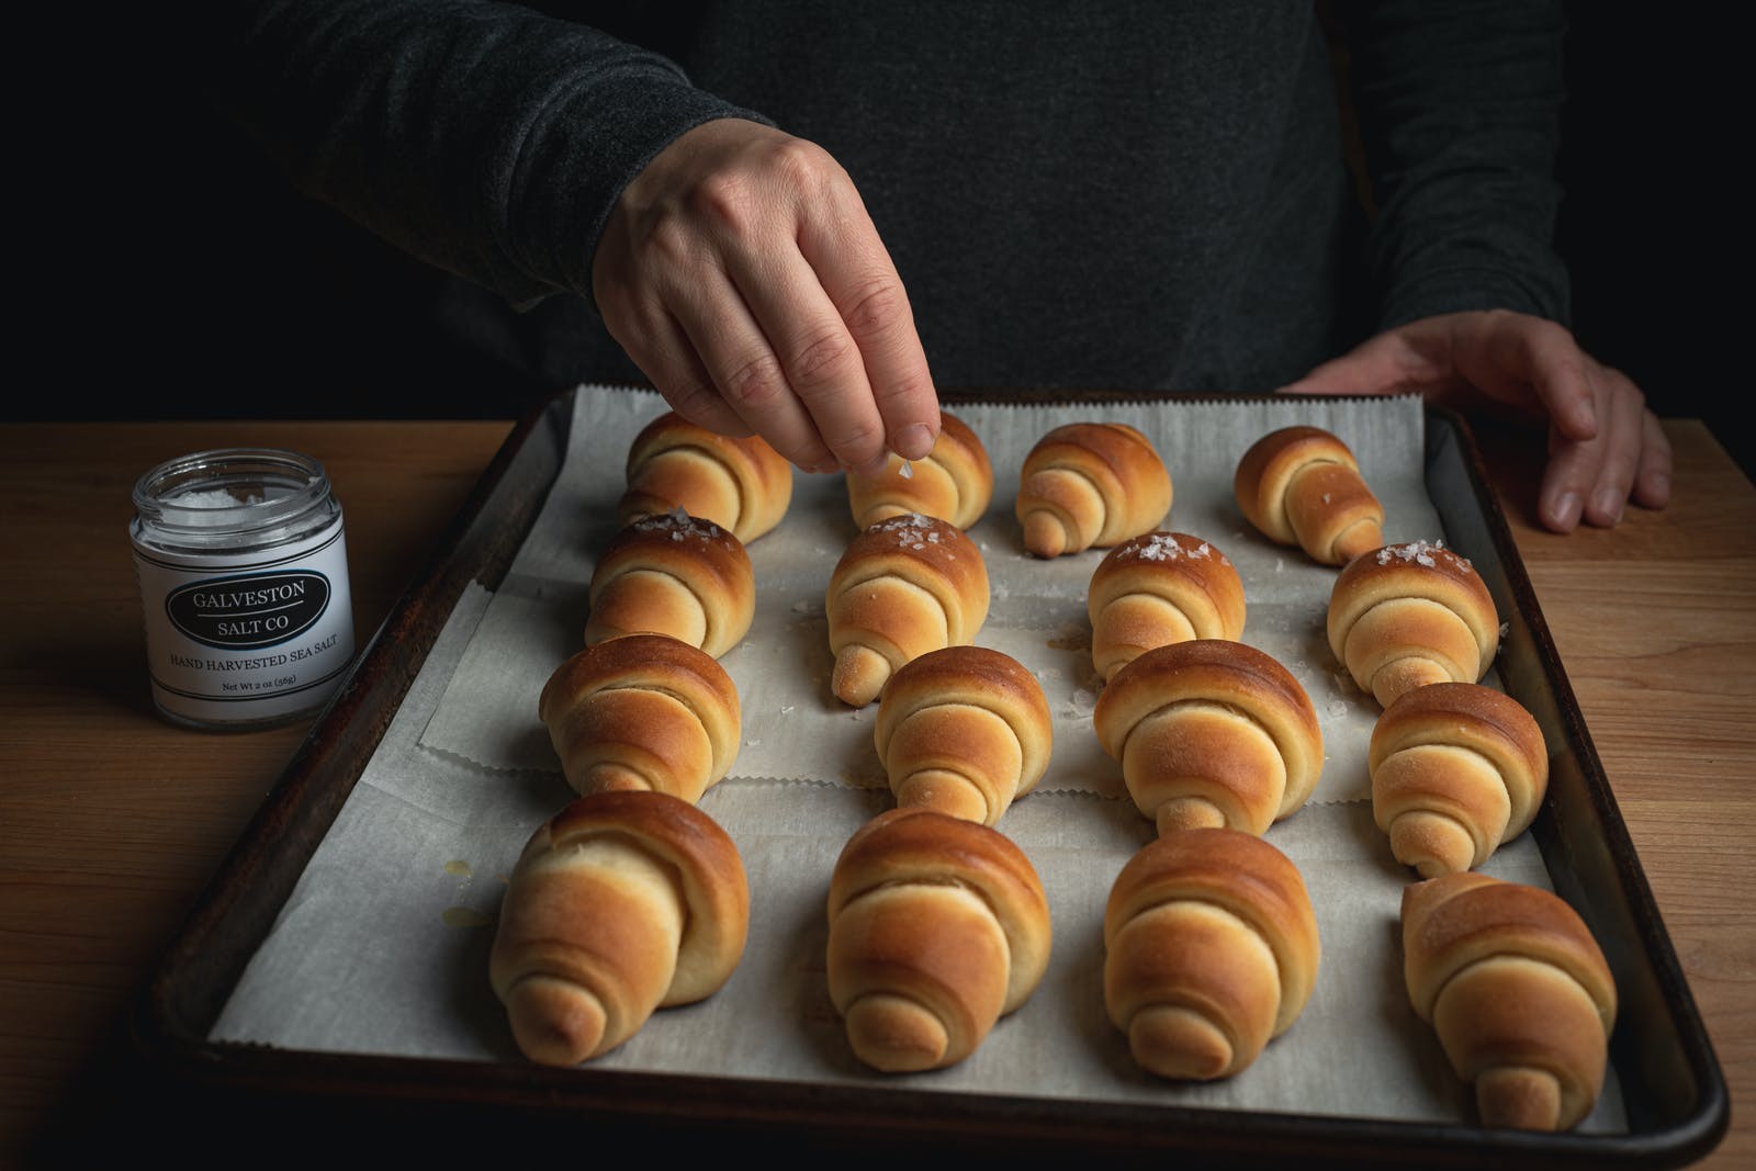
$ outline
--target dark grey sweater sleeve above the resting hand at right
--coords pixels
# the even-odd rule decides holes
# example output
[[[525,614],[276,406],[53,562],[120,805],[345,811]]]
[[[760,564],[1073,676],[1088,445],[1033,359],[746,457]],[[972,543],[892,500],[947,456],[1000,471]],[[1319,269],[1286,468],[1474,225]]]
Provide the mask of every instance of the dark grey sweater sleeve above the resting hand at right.
[[[1563,325],[1563,16],[1554,0],[1335,9],[1373,193],[1378,328],[1466,309]]]

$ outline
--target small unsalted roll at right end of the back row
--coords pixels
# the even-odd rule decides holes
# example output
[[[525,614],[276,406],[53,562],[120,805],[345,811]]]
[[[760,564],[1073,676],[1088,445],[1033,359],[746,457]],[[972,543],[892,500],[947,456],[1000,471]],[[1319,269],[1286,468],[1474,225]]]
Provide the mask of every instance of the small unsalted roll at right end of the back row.
[[[1352,449],[1319,427],[1282,427],[1250,444],[1233,476],[1245,518],[1270,541],[1345,565],[1384,544],[1384,506]]]

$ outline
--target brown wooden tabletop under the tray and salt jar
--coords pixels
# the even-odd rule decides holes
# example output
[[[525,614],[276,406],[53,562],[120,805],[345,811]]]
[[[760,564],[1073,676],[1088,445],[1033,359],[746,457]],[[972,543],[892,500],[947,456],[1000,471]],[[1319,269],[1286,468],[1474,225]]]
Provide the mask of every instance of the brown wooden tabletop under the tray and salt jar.
[[[0,425],[0,1162],[126,1127],[130,999],[309,722],[202,734],[153,715],[126,525],[135,478],[211,446],[323,462],[348,516],[358,639],[420,571],[502,421]],[[1544,616],[1731,1096],[1698,1166],[1756,1166],[1756,488],[1668,420],[1675,500],[1554,535],[1542,442],[1479,427]],[[144,1110],[144,1108],[142,1108]],[[176,1152],[167,1152],[176,1153]]]

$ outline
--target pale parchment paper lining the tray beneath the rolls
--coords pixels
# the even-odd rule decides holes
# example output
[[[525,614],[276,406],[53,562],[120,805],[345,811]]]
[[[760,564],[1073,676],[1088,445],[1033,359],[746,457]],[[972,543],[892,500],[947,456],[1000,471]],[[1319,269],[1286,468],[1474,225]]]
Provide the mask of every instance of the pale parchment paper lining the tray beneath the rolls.
[[[214,1039],[300,1050],[520,1060],[486,983],[504,881],[520,848],[571,797],[536,695],[578,650],[594,555],[616,530],[622,455],[666,407],[657,395],[583,386],[567,463],[507,579],[458,602],[392,729],[258,950]],[[745,741],[701,808],[738,843],[753,892],[750,939],[709,1001],[662,1009],[594,1067],[730,1078],[857,1081],[1289,1113],[1465,1120],[1465,1087],[1401,987],[1398,908],[1412,871],[1371,822],[1364,750],[1378,708],[1335,664],[1324,613],[1335,569],[1256,534],[1231,497],[1238,456],[1287,423],[1342,435],[1385,504],[1385,539],[1443,539],[1422,483],[1419,399],[954,407],[989,448],[996,495],[971,535],[994,585],[978,644],[1038,672],[1055,741],[1048,776],[997,829],[1043,878],[1055,943],[1033,997],[957,1067],[880,1076],[846,1050],[824,978],[829,873],[846,837],[887,808],[871,744],[876,708],[829,690],[824,588],[853,537],[845,485],[795,476],[780,528],[750,542],[757,618],[722,664]],[[1238,565],[1243,641],[1310,693],[1324,772],[1310,804],[1268,839],[1305,876],[1322,938],[1310,1006],[1240,1076],[1166,1083],[1134,1067],[1103,1008],[1101,918],[1122,864],[1152,836],[1090,725],[1085,583],[1092,550],[1024,553],[1011,502],[1018,465],[1050,427],[1112,418],[1140,427],[1171,471],[1166,528],[1208,539]],[[1461,550],[1468,555],[1468,550]],[[1491,672],[1487,683],[1494,685]],[[1549,887],[1521,837],[1484,871]],[[1614,1073],[1587,1132],[1624,1131]]]

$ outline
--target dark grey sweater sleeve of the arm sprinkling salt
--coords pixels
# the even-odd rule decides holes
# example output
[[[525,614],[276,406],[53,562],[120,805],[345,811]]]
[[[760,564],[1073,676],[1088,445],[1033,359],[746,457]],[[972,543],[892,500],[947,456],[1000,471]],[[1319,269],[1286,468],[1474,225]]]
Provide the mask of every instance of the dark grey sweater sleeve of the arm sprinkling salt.
[[[767,121],[655,53],[509,4],[218,7],[198,84],[300,191],[520,307],[590,298],[604,221],[666,144]]]

